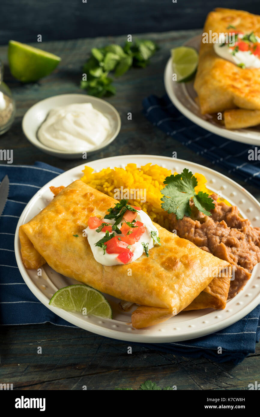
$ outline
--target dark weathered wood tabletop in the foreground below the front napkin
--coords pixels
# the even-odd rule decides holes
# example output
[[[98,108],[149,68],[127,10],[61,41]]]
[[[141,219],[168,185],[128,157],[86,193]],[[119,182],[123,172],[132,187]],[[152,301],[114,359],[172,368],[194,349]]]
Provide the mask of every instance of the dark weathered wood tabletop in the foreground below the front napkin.
[[[259,380],[260,347],[234,366],[147,349],[51,324],[1,329],[0,380],[14,389],[138,388],[146,379],[177,389],[247,389]],[[132,347],[132,354],[127,348]],[[42,354],[37,348],[42,348]],[[258,379],[257,379],[258,378]]]

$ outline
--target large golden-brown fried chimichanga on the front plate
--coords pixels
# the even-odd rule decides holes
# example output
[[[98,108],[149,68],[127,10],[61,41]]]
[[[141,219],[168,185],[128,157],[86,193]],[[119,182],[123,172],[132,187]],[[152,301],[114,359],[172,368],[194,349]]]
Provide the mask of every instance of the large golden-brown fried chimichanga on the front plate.
[[[126,265],[102,265],[94,259],[82,231],[90,216],[103,218],[115,203],[114,198],[81,180],[71,183],[37,216],[20,226],[25,267],[36,269],[47,262],[60,274],[106,294],[139,305],[170,309],[175,315],[212,281],[212,276],[202,274],[204,267],[211,265],[221,270],[229,265],[158,224],[155,226],[161,246],[150,249],[149,257],[143,254]]]

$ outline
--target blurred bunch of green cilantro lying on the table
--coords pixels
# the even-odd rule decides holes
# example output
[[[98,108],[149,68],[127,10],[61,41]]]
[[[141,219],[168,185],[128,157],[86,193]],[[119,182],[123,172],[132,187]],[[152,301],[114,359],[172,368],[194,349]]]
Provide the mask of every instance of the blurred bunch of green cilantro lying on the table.
[[[83,74],[86,74],[87,79],[81,81],[81,88],[96,97],[115,94],[116,88],[111,85],[113,78],[108,76],[109,73],[113,71],[119,77],[131,67],[144,68],[157,49],[157,45],[151,40],[126,42],[123,48],[116,44],[92,48],[91,57],[83,66]]]

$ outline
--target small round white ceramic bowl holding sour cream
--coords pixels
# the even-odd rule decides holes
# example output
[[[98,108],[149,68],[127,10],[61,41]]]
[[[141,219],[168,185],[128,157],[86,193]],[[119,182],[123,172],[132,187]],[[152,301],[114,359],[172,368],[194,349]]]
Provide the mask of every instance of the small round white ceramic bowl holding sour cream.
[[[111,133],[100,146],[91,149],[87,153],[93,153],[99,149],[109,145],[118,135],[121,128],[121,118],[118,111],[101,98],[93,97],[86,94],[61,94],[54,95],[53,97],[45,98],[38,103],[34,104],[23,116],[22,128],[23,133],[27,137],[28,141],[32,143],[36,148],[50,155],[58,156],[64,159],[82,158],[82,152],[71,151],[59,151],[58,149],[49,148],[38,140],[37,132],[40,125],[45,121],[49,111],[53,108],[66,106],[73,103],[91,103],[92,106],[103,113],[111,124]]]

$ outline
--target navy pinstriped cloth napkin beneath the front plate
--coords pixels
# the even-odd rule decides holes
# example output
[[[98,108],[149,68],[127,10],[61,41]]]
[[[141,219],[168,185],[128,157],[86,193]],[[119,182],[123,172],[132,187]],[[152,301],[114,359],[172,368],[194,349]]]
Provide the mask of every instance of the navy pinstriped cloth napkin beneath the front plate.
[[[0,217],[0,325],[52,323],[76,327],[56,316],[33,295],[20,275],[14,252],[18,219],[31,197],[45,183],[62,173],[61,169],[36,162],[34,166],[0,164],[0,181],[8,174],[8,201]],[[255,352],[260,336],[260,305],[232,326],[199,339],[186,342],[146,345],[186,357],[207,357],[216,362],[235,363]],[[218,354],[218,347],[222,354]]]

